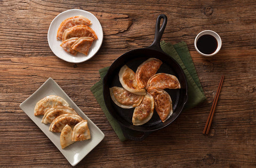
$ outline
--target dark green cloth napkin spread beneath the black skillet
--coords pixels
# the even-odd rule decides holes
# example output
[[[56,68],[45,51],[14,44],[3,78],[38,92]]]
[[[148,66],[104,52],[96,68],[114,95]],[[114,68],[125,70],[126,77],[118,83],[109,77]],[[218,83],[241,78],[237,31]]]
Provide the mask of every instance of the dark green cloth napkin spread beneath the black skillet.
[[[177,61],[181,68],[183,69],[188,83],[188,102],[185,105],[185,110],[193,108],[199,103],[203,102],[206,98],[204,95],[203,88],[198,79],[196,69],[189,53],[187,44],[182,41],[180,43],[172,45],[171,43],[165,43],[161,41],[161,48],[166,54],[169,54],[171,57]],[[111,127],[113,127],[116,135],[121,141],[124,141],[126,138],[123,135],[122,129],[119,123],[114,119],[113,116],[108,112],[103,99],[103,83],[102,79],[105,77],[109,67],[99,70],[101,80],[95,83],[90,89],[97,99],[100,107],[102,108],[103,113],[105,113],[107,120],[109,121]]]

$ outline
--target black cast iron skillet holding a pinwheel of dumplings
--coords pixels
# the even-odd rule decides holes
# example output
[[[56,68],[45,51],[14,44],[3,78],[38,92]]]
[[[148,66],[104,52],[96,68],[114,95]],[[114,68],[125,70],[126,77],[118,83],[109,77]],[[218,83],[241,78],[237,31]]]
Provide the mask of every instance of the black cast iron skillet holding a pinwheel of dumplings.
[[[161,19],[163,19],[163,23],[160,28]],[[108,111],[121,124],[124,136],[131,140],[143,140],[151,132],[162,129],[171,124],[181,113],[183,106],[187,102],[187,80],[185,74],[180,65],[171,56],[164,53],[160,47],[160,40],[166,23],[166,15],[159,15],[156,20],[155,38],[153,43],[149,47],[134,49],[118,57],[110,66],[105,78],[103,79],[103,97]],[[130,69],[136,72],[138,66],[150,57],[158,58],[163,62],[157,73],[164,72],[175,75],[180,81],[181,89],[165,89],[165,91],[167,91],[171,96],[173,104],[173,114],[169,119],[163,123],[159,119],[156,111],[154,111],[152,118],[147,123],[136,126],[132,124],[134,108],[124,109],[117,106],[111,100],[109,88],[113,86],[122,87],[119,82],[118,73],[123,65],[126,64]]]

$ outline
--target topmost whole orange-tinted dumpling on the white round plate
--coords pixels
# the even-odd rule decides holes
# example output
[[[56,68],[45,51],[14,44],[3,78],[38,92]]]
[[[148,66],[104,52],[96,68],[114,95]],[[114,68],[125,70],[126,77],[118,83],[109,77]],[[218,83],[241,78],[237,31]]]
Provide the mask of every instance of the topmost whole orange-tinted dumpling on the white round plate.
[[[64,21],[61,22],[61,24],[58,28],[57,39],[58,40],[62,39],[63,32],[66,29],[74,27],[76,25],[82,25],[82,24],[86,25],[86,26],[90,26],[90,24],[92,24],[92,22],[89,19],[82,16],[82,15],[73,16],[73,17],[65,19]]]

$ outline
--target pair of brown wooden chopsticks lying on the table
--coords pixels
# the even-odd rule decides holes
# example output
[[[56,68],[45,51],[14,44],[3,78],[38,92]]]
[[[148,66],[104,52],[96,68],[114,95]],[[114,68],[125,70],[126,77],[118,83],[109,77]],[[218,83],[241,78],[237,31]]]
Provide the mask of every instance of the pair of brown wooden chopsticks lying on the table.
[[[212,124],[212,119],[213,119],[213,115],[214,115],[214,111],[215,111],[215,108],[217,106],[217,102],[218,102],[219,95],[220,95],[220,89],[222,87],[222,83],[223,83],[224,77],[225,77],[225,75],[221,76],[220,84],[219,84],[219,87],[217,89],[217,93],[216,93],[216,95],[214,97],[214,100],[213,100],[213,103],[212,103],[212,108],[211,108],[211,111],[210,111],[209,116],[207,118],[203,134],[208,134],[209,131],[210,131],[211,124]]]

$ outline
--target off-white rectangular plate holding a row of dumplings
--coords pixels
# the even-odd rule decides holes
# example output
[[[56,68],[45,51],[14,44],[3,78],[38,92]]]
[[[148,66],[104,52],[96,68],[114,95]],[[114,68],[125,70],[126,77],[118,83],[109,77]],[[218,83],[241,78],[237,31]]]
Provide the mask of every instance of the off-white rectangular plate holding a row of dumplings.
[[[41,122],[43,116],[35,116],[34,108],[36,103],[49,95],[57,95],[65,99],[70,107],[74,108],[79,116],[88,121],[91,133],[91,139],[85,141],[77,141],[74,144],[62,149],[60,146],[60,133],[49,131],[50,124]],[[67,158],[68,162],[75,166],[79,163],[91,150],[97,146],[105,137],[103,132],[95,125],[89,117],[87,117],[80,108],[68,97],[68,95],[60,88],[60,86],[52,79],[47,79],[44,84],[39,87],[29,98],[20,104],[20,108],[30,117],[32,121],[45,133],[45,135],[53,142],[60,152]]]

